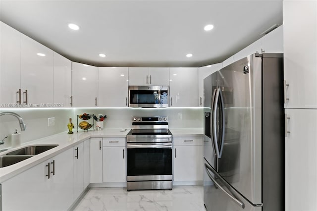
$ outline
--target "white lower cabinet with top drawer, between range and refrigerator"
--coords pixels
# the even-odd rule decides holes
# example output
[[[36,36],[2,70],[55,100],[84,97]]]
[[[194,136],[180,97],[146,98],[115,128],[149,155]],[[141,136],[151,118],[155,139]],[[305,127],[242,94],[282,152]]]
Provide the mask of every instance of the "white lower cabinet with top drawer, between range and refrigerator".
[[[203,137],[188,135],[174,137],[173,184],[202,184]]]

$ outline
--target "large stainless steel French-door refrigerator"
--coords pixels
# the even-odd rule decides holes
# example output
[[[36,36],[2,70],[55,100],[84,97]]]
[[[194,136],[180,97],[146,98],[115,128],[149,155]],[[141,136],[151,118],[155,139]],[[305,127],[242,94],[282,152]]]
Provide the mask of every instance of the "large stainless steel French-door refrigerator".
[[[283,54],[255,53],[204,80],[208,211],[284,210]]]

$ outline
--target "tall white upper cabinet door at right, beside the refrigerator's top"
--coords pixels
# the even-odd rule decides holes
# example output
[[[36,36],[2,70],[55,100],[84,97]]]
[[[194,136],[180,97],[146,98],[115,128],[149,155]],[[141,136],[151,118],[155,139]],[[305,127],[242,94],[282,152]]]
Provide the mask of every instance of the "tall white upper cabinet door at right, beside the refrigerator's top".
[[[284,106],[317,108],[317,1],[283,1],[283,22]]]

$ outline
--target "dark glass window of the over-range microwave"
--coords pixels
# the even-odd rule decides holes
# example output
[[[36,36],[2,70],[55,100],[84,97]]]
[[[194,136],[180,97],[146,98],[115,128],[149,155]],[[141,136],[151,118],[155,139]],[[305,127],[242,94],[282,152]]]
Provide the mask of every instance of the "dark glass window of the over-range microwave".
[[[130,90],[130,104],[159,104],[159,91]]]

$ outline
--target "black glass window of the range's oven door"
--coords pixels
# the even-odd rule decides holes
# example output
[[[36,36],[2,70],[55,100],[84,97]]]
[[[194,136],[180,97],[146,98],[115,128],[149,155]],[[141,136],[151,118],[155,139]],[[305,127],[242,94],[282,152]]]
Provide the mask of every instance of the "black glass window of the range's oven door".
[[[171,175],[172,149],[127,149],[127,175]]]

